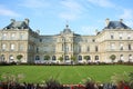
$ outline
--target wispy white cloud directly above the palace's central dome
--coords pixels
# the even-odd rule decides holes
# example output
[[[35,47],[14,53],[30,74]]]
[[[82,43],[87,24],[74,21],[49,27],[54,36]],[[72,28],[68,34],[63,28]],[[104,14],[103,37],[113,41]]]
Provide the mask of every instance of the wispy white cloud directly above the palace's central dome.
[[[79,2],[73,0],[64,0],[60,3],[63,10],[59,13],[59,17],[65,20],[78,19],[84,9]]]

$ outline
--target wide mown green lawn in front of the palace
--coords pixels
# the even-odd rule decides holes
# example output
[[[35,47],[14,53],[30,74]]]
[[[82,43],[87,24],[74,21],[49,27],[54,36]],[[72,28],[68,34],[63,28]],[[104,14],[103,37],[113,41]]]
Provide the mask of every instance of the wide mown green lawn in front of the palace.
[[[3,72],[23,73],[23,81],[42,82],[51,77],[61,83],[80,83],[91,77],[95,81],[109,82],[115,73],[132,72],[133,66],[0,66]]]

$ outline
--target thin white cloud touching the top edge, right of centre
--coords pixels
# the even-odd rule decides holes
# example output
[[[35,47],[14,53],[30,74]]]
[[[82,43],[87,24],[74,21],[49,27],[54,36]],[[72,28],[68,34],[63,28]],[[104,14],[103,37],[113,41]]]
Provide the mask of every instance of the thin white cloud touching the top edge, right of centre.
[[[114,7],[114,3],[112,3],[110,0],[88,0],[88,1],[95,6],[103,7],[103,8]]]

